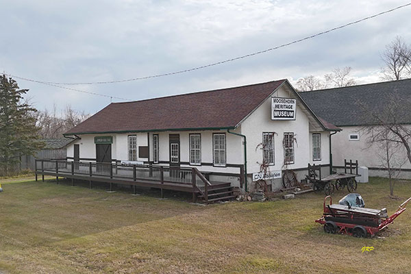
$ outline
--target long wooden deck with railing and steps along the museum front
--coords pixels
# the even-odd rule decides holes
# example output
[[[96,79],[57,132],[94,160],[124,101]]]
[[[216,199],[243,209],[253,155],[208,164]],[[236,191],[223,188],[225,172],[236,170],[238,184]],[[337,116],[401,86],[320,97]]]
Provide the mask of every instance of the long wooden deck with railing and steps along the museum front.
[[[36,160],[36,181],[38,175],[45,175],[71,179],[72,184],[76,179],[89,182],[105,182],[110,184],[123,184],[160,188],[163,190],[177,190],[191,192],[193,202],[197,198],[210,201],[220,201],[234,198],[233,188],[229,183],[209,182],[196,168],[181,168],[173,166],[155,165],[124,165],[117,163],[98,162],[73,162],[67,160]],[[136,188],[134,187],[134,192]]]

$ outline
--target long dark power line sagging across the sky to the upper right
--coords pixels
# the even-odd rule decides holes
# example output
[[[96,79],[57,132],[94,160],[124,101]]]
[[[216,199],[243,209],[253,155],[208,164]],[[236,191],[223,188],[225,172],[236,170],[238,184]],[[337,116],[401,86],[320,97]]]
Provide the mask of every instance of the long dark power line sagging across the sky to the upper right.
[[[301,39],[299,39],[299,40],[294,40],[294,41],[292,41],[292,42],[288,42],[288,43],[283,44],[283,45],[279,45],[279,46],[276,46],[276,47],[271,47],[271,48],[269,48],[269,49],[264,49],[264,50],[262,50],[262,51],[256,51],[256,52],[254,52],[254,53],[249,53],[249,54],[246,54],[246,55],[241,55],[241,56],[238,56],[238,57],[235,57],[235,58],[230,58],[230,59],[223,60],[223,61],[219,61],[219,62],[215,62],[215,63],[212,63],[212,64],[206,64],[206,65],[203,65],[203,66],[197,66],[197,67],[194,67],[194,68],[191,68],[191,69],[184,69],[184,70],[182,70],[182,71],[175,71],[175,72],[171,72],[171,73],[163,73],[163,74],[157,74],[157,75],[149,75],[149,76],[145,76],[145,77],[136,77],[136,78],[132,78],[132,79],[121,79],[121,80],[114,80],[114,81],[105,81],[105,82],[62,83],[62,82],[36,81],[36,80],[33,80],[33,79],[26,79],[26,78],[25,78],[24,80],[31,81],[31,82],[37,82],[37,83],[40,83],[40,84],[53,84],[53,85],[91,85],[91,84],[114,84],[114,83],[122,83],[122,82],[132,82],[132,81],[138,81],[138,80],[144,80],[144,79],[150,79],[150,78],[158,78],[158,77],[176,75],[176,74],[181,74],[181,73],[188,73],[188,72],[190,72],[190,71],[197,71],[197,70],[199,70],[199,69],[206,69],[206,68],[208,68],[208,67],[210,67],[210,66],[216,66],[216,65],[219,65],[219,64],[225,64],[225,63],[227,63],[227,62],[232,62],[232,61],[240,60],[240,59],[243,59],[243,58],[251,57],[251,56],[253,56],[253,55],[258,55],[258,54],[261,54],[261,53],[266,53],[266,52],[268,52],[268,51],[273,51],[273,50],[275,50],[275,49],[280,49],[280,48],[282,48],[282,47],[288,47],[288,46],[293,45],[293,44],[296,44],[296,43],[298,43],[298,42],[303,42],[304,40],[308,40],[308,39],[311,39],[311,38],[315,38],[316,36],[321,36],[321,35],[323,35],[323,34],[328,34],[329,32],[334,32],[334,31],[336,31],[336,30],[338,30],[338,29],[342,29],[343,27],[348,27],[348,26],[350,26],[350,25],[355,25],[355,24],[360,23],[360,22],[362,22],[362,21],[366,21],[366,20],[369,20],[369,19],[371,19],[371,18],[375,18],[375,17],[380,16],[380,15],[382,15],[382,14],[387,14],[387,13],[389,13],[389,12],[394,12],[395,10],[399,10],[400,8],[405,8],[405,7],[407,7],[408,5],[411,5],[411,3],[407,3],[407,4],[405,4],[405,5],[400,5],[400,6],[398,6],[397,8],[392,8],[392,9],[386,10],[386,11],[384,11],[384,12],[379,12],[379,13],[377,13],[377,14],[374,14],[374,15],[367,16],[367,17],[364,17],[364,18],[362,18],[362,19],[359,19],[359,20],[357,20],[357,21],[353,21],[353,22],[347,23],[347,24],[345,24],[345,25],[340,25],[339,27],[333,27],[332,29],[328,29],[328,30],[326,30],[326,31],[324,31],[324,32],[319,32],[319,33],[313,34],[313,35],[311,35],[311,36],[306,36],[306,37],[301,38]],[[17,76],[15,76],[15,75],[10,75],[10,76],[16,77],[16,78],[19,78],[19,79],[23,79],[23,77],[17,77]],[[77,90],[77,91],[79,91],[79,90]],[[87,92],[86,92],[86,93],[87,93]],[[96,95],[98,95],[98,94],[96,94]],[[106,96],[106,95],[101,95],[101,96]],[[110,97],[110,96],[109,96],[109,97]],[[113,98],[116,98],[116,97],[113,97]]]

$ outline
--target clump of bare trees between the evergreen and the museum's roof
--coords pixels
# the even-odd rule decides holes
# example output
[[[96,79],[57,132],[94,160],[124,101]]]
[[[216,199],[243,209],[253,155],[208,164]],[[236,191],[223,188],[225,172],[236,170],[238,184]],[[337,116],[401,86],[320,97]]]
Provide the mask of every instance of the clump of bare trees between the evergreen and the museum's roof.
[[[67,132],[72,127],[75,127],[82,121],[86,120],[90,115],[85,112],[73,110],[70,105],[67,105],[61,114],[53,105],[52,110],[45,109],[36,113],[36,121],[40,127],[40,136],[42,138],[62,138],[64,132]]]

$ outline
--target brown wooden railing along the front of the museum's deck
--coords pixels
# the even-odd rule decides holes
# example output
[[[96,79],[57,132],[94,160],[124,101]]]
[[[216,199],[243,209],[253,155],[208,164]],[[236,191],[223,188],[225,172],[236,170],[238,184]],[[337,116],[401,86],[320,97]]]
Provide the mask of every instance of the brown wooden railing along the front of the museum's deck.
[[[88,177],[110,177],[111,179],[126,179],[172,183],[192,184],[204,197],[208,195],[210,182],[196,168],[179,166],[158,166],[153,164],[120,164],[103,162],[83,162],[67,160],[35,160],[36,172],[55,173],[56,177],[64,175],[84,175]]]

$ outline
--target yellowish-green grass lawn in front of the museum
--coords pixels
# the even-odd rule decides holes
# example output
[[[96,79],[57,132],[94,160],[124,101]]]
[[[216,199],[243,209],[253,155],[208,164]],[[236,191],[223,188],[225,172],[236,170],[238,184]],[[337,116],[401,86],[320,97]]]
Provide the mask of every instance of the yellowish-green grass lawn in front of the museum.
[[[411,205],[384,238],[329,235],[323,195],[196,206],[48,182],[2,184],[0,273],[410,273]],[[359,184],[368,208],[393,213],[399,182]],[[334,202],[347,194],[336,192]],[[362,253],[364,246],[373,251]]]

